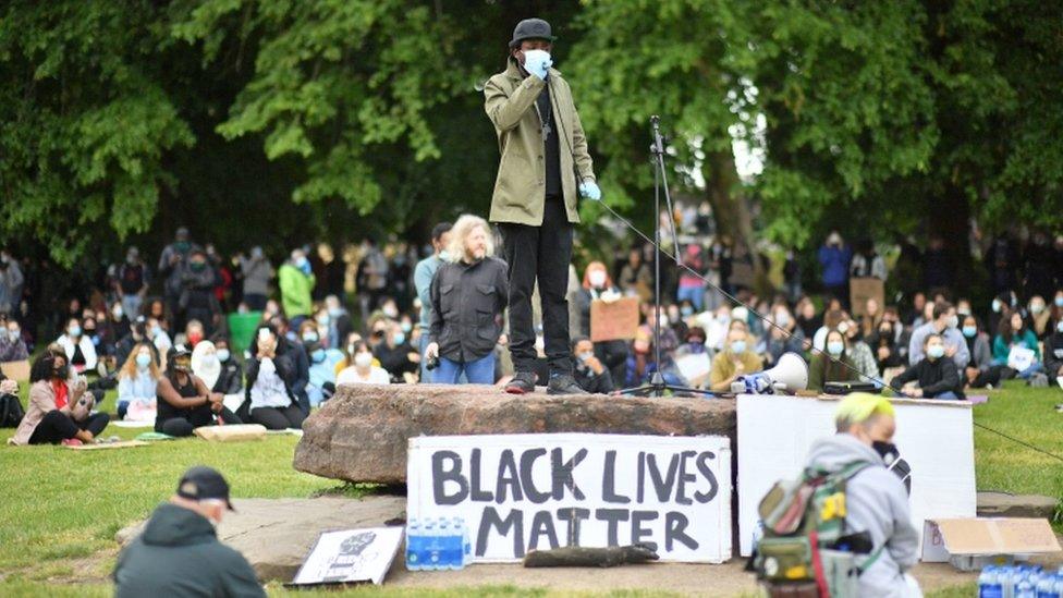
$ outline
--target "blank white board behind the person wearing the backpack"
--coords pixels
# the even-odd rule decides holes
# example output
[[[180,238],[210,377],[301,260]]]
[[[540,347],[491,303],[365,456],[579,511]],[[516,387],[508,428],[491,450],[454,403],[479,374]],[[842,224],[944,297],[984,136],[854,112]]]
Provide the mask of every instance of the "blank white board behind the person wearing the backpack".
[[[834,434],[838,399],[743,394],[738,402],[740,550],[749,556],[757,505],[779,479],[794,479],[812,442]],[[975,441],[965,401],[894,400],[893,442],[912,466],[912,518],[974,517]]]

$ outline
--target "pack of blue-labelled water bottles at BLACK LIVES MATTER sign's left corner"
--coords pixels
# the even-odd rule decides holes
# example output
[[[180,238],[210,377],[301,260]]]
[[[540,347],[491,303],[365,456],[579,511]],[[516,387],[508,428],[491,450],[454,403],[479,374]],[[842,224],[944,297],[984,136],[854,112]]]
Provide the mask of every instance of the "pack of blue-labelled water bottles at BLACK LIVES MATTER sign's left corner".
[[[464,569],[472,556],[468,528],[461,517],[410,520],[406,523],[406,569]]]

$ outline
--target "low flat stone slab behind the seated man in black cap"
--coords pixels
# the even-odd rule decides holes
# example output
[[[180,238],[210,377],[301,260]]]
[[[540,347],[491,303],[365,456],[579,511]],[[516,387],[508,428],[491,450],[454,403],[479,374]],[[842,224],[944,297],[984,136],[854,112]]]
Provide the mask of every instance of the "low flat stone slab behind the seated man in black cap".
[[[405,518],[404,497],[364,499],[235,499],[236,511],[218,526],[218,538],[239,550],[258,578],[290,582],[321,532],[379,527]],[[122,546],[133,541],[144,522],[120,530]]]

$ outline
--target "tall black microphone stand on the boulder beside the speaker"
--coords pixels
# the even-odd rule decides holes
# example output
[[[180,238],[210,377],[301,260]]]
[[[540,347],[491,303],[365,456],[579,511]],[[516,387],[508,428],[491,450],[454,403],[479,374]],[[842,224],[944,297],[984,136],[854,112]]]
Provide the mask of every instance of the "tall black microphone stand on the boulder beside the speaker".
[[[661,118],[652,115],[649,118],[650,126],[653,131],[653,145],[650,152],[653,155],[653,359],[657,363],[657,370],[650,376],[649,383],[640,387],[628,388],[620,391],[621,394],[634,394],[643,396],[664,396],[664,391],[670,390],[673,394],[688,393],[700,394],[704,396],[716,396],[709,390],[680,387],[669,385],[664,381],[661,373],[661,188],[664,190],[664,204],[668,208],[668,217],[671,222],[672,246],[674,248],[675,265],[681,266],[682,257],[680,254],[680,240],[675,232],[675,221],[672,216],[672,196],[668,191],[668,172],[664,166],[664,138],[661,136]]]

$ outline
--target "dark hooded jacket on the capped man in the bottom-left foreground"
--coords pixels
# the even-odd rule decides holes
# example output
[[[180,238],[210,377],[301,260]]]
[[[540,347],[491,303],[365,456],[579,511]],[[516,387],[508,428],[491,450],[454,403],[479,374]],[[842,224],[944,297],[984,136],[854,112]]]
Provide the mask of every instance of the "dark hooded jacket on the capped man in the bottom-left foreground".
[[[119,556],[114,596],[266,596],[243,554],[218,541],[203,515],[160,504]]]

